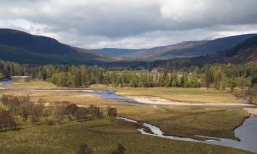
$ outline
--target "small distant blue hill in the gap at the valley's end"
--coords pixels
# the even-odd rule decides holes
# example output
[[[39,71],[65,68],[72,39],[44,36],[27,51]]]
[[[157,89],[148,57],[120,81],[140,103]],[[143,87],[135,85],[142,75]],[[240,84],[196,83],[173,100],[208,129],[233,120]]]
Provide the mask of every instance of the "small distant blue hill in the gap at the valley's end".
[[[140,49],[119,49],[119,48],[102,48],[102,49],[93,49],[98,53],[103,53],[105,55],[110,55],[114,57],[122,57],[122,55],[134,53],[140,51]]]

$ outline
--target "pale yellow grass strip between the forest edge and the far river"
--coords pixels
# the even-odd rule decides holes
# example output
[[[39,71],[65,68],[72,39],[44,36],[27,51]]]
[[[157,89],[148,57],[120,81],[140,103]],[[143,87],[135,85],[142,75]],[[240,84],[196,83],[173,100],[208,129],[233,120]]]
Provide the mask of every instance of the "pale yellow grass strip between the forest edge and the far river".
[[[17,82],[1,88],[9,89],[56,89],[55,85],[44,81]],[[66,88],[58,88],[66,89]],[[82,88],[77,88],[82,89]],[[85,89],[85,88],[83,88]],[[87,88],[89,89],[89,88]],[[188,103],[241,103],[233,94],[224,90],[206,90],[206,88],[111,88],[103,85],[93,85],[95,90],[116,90],[122,96],[151,96]],[[75,94],[77,95],[77,94]],[[76,99],[75,99],[76,100]],[[77,103],[81,103],[81,101]]]

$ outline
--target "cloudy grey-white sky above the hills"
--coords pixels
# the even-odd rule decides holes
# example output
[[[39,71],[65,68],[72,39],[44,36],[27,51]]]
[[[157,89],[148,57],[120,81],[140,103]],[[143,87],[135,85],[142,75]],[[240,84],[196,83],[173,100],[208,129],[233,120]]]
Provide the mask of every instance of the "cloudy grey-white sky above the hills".
[[[257,33],[256,0],[0,0],[0,28],[85,49]]]

